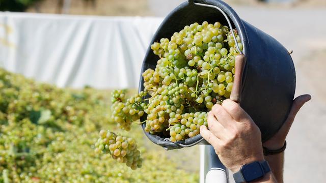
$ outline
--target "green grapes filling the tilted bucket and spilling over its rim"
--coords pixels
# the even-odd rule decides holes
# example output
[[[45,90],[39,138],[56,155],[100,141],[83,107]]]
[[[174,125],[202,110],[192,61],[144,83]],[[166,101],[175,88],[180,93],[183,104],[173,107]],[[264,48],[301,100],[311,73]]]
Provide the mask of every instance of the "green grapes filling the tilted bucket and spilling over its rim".
[[[220,22],[204,21],[185,26],[170,40],[154,42],[157,65],[142,74],[144,91],[126,99],[123,90],[115,90],[112,119],[127,131],[132,122],[146,123],[146,132],[169,136],[173,142],[199,134],[212,106],[230,97],[235,42],[243,48],[235,35],[236,40]],[[146,120],[139,121],[145,113]]]

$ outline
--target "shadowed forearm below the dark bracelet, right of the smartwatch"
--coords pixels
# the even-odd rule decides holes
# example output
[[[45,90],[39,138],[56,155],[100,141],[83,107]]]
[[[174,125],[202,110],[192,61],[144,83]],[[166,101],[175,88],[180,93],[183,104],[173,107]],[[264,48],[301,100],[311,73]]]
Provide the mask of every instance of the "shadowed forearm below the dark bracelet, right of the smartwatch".
[[[268,162],[277,182],[283,183],[284,152],[265,156],[264,159]]]

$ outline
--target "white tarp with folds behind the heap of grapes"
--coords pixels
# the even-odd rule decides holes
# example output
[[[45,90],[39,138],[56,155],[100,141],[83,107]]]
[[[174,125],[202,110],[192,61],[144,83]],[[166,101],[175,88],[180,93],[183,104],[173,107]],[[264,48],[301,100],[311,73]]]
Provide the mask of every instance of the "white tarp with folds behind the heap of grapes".
[[[0,12],[0,67],[61,87],[138,87],[161,21]]]

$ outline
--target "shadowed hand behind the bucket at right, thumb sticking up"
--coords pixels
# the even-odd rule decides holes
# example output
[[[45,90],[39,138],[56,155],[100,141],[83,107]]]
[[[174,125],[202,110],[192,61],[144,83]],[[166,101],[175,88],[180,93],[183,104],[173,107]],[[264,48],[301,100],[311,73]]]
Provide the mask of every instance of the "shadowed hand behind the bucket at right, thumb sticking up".
[[[297,98],[294,99],[292,108],[290,110],[290,113],[285,120],[283,126],[281,129],[269,140],[263,143],[263,146],[275,150],[281,148],[284,143],[285,143],[285,138],[287,134],[289,133],[289,130],[291,128],[291,125],[293,123],[294,117],[296,113],[300,110],[300,108],[309,100],[311,99],[311,96],[306,94],[302,96],[298,96]]]

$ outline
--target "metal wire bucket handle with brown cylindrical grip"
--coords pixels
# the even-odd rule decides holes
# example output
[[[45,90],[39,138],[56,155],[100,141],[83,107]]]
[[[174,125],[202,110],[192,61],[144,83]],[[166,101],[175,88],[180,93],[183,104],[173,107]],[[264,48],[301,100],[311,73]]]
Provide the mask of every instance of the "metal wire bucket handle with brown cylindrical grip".
[[[207,5],[207,4],[202,4],[202,3],[195,3],[194,0],[188,0],[189,4],[194,4],[194,5],[198,5],[198,6],[203,6],[203,7],[209,7],[209,8],[214,8],[216,10],[219,10],[223,16],[225,17],[225,19],[227,20],[229,27],[231,29],[231,33],[233,36],[233,39],[235,40],[235,46],[237,51],[239,52],[239,55],[235,56],[235,74],[234,74],[234,82],[233,82],[233,87],[232,87],[232,91],[231,91],[231,95],[230,95],[230,99],[236,103],[240,103],[241,101],[241,85],[242,85],[242,74],[243,74],[243,69],[244,69],[244,65],[246,64],[246,56],[244,56],[243,52],[240,50],[238,42],[236,41],[236,37],[233,31],[233,27],[231,24],[231,21],[229,19],[229,17],[225,14],[225,12],[217,7],[217,6],[213,6],[213,5]],[[198,141],[191,143],[191,144],[181,144],[178,142],[172,142],[169,138],[165,138],[164,141],[169,141],[172,142],[174,144],[176,144],[177,146],[183,148],[183,147],[191,147],[194,146],[198,143],[200,143],[201,141],[203,141],[204,138],[202,137],[201,139],[199,139]],[[169,150],[168,148],[165,147],[166,150]]]

